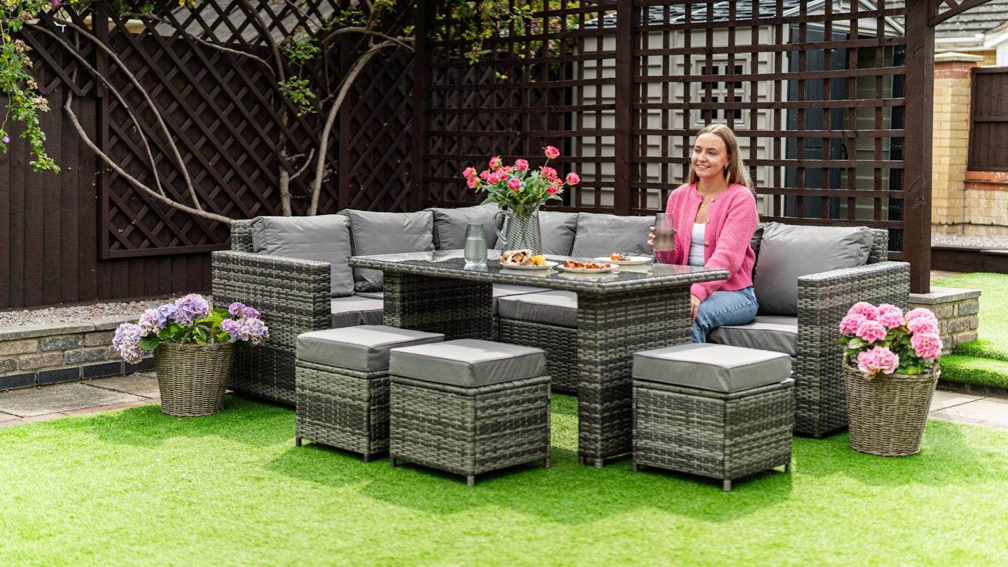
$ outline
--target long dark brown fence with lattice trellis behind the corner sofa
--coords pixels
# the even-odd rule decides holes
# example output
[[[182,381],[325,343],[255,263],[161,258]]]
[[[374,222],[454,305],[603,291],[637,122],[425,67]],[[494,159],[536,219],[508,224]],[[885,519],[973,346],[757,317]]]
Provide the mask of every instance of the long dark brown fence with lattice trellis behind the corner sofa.
[[[460,24],[440,3],[414,3],[387,25],[415,23],[424,40],[358,81],[331,136],[320,212],[477,202],[465,166],[496,154],[536,163],[549,144],[563,153],[557,168],[583,179],[559,208],[646,214],[684,179],[691,136],[717,120],[740,136],[764,220],[887,228],[891,257],[913,262],[926,291],[931,26],[978,3],[558,0],[489,38],[477,65],[459,55]],[[304,6],[328,16],[350,4]],[[51,35],[25,33],[65,171],[32,174],[16,147],[0,163],[0,309],[209,289],[207,251],[227,245],[227,227],[138,192],[61,104],[74,97],[82,129],[126,174],[150,184],[157,172],[183,199],[186,171],[209,210],[276,214],[281,150],[316,147],[320,116],[296,116],[267,70],[205,42],[261,53],[263,29],[279,40],[296,28],[293,6],[165,0],[161,19],[130,21],[99,2],[67,12],[77,30],[43,18]],[[111,25],[92,32],[90,18]],[[346,41],[307,70],[322,90],[346,74]],[[292,185],[294,214],[309,182]]]

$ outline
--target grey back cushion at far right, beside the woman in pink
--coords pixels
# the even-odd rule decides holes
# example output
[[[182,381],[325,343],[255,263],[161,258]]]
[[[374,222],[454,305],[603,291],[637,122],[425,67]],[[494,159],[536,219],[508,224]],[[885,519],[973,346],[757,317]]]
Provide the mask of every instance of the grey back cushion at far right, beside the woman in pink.
[[[864,265],[873,234],[864,226],[797,226],[766,223],[753,290],[763,315],[798,314],[798,277]]]

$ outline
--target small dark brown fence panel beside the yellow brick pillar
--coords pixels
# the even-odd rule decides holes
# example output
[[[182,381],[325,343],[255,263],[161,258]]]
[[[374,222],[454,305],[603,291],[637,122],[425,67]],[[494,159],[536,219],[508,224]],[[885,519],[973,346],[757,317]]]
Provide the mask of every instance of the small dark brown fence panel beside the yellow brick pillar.
[[[1008,68],[973,69],[970,169],[1008,172]]]

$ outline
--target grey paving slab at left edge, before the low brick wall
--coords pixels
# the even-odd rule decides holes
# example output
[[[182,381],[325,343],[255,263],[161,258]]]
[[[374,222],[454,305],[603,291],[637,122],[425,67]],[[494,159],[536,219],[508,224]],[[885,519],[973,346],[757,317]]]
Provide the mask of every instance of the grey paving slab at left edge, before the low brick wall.
[[[131,393],[75,382],[0,393],[0,412],[20,418],[30,418],[45,414],[61,414],[82,408],[147,400]]]

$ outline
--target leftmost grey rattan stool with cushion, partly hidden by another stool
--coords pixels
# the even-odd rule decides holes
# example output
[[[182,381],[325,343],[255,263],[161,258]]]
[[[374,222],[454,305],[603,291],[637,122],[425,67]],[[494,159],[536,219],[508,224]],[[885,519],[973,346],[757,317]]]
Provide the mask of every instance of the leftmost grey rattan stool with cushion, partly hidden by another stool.
[[[385,325],[311,331],[297,337],[294,371],[301,439],[360,453],[388,449],[388,351],[440,342],[445,335]]]

